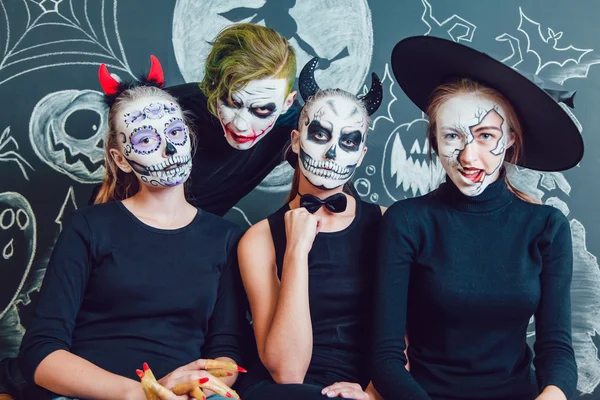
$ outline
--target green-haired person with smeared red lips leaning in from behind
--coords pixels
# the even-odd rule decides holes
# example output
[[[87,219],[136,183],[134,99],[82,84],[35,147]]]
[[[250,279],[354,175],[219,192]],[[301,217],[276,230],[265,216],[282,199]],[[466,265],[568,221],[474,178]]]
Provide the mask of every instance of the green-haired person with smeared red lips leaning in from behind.
[[[284,160],[300,109],[295,80],[296,54],[288,40],[242,23],[212,42],[202,82],[165,88],[197,133],[186,185],[191,204],[223,216]]]

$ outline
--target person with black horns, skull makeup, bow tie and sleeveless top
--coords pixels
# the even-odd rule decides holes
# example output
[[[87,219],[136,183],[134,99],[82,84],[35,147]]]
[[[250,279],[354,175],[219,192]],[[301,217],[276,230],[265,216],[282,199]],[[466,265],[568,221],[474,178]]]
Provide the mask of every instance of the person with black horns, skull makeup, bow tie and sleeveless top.
[[[368,265],[382,209],[343,189],[366,153],[381,84],[373,74],[362,99],[320,90],[316,64],[299,78],[306,104],[292,132],[289,202],[238,247],[260,359],[242,383],[246,400],[370,398]]]

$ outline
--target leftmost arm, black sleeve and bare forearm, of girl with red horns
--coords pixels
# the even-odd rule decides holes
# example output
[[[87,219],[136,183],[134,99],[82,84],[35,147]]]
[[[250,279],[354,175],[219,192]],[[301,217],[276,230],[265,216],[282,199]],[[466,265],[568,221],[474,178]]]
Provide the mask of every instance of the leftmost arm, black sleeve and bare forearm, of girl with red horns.
[[[115,399],[127,391],[142,394],[138,382],[69,352],[91,270],[91,246],[87,221],[76,212],[52,252],[39,304],[21,343],[20,369],[28,382],[69,397]]]

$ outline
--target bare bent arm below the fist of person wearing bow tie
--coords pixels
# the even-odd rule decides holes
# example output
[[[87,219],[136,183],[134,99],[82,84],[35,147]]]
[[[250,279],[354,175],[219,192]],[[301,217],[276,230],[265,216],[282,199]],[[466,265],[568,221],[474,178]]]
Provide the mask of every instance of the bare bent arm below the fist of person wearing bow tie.
[[[268,221],[250,228],[238,248],[258,354],[277,383],[302,383],[312,356],[308,303],[310,248],[296,247],[294,243],[297,242],[288,241],[281,282]]]

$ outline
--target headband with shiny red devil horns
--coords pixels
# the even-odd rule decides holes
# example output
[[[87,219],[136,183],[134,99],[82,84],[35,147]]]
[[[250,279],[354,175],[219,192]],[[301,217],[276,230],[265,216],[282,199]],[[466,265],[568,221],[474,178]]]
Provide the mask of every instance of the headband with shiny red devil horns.
[[[165,86],[162,66],[158,58],[153,55],[150,56],[150,72],[146,76],[141,76],[138,82],[119,82],[108,72],[105,64],[100,65],[98,79],[104,92],[104,100],[109,107],[112,107],[117,97],[125,90],[136,86],[155,86],[161,89]]]

